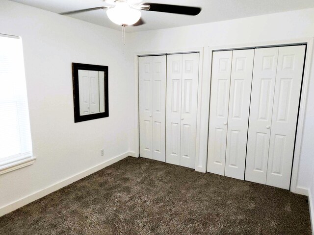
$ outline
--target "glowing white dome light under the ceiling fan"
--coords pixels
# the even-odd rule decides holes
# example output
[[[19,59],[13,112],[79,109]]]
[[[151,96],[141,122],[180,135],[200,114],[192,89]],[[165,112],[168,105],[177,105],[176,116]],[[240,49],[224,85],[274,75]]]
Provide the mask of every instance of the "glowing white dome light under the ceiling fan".
[[[107,16],[114,24],[132,25],[141,18],[141,12],[130,8],[126,2],[118,2],[114,8],[107,10]]]

